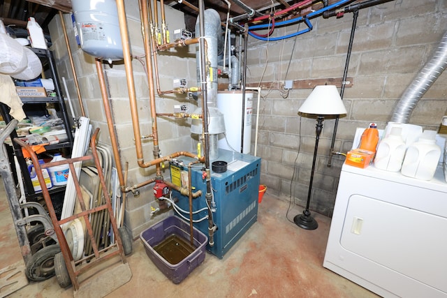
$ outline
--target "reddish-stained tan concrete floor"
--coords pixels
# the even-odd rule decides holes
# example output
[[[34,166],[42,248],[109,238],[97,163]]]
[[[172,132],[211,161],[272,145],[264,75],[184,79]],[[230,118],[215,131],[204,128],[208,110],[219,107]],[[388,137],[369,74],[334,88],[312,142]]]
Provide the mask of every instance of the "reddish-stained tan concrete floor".
[[[0,201],[1,269],[20,262],[22,255],[4,192]],[[222,260],[207,253],[205,261],[179,285],[155,267],[136,239],[127,258],[131,281],[106,297],[377,297],[323,268],[330,218],[314,214],[318,229],[302,230],[286,218],[287,207],[288,202],[266,193],[258,221],[242,239]],[[301,211],[294,207],[290,219]],[[91,293],[96,286],[101,284],[92,285]],[[73,297],[73,288],[60,288],[52,277],[30,282],[10,297]]]

